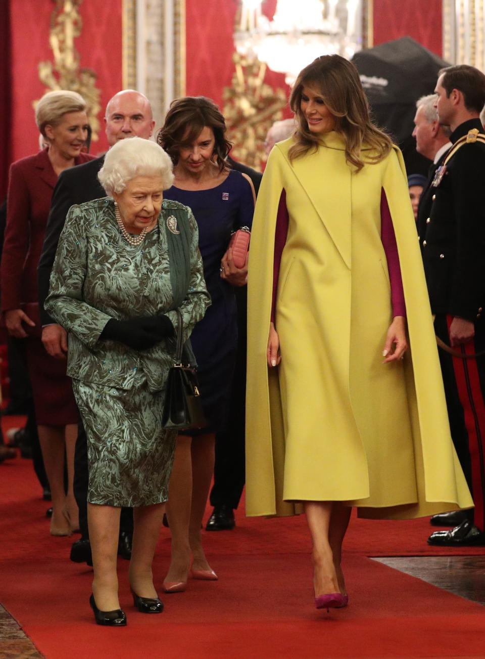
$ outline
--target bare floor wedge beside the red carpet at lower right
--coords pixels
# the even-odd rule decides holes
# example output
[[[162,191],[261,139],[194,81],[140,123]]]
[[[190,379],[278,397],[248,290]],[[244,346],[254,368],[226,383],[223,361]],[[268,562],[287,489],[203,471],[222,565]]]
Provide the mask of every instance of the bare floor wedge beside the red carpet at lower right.
[[[485,606],[485,556],[401,556],[374,561]]]

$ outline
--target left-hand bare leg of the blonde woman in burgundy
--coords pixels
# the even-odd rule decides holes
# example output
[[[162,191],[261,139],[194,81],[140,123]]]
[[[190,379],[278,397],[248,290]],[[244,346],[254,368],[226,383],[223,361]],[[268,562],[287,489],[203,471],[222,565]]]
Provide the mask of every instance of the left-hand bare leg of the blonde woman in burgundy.
[[[70,523],[65,514],[66,494],[64,492],[64,426],[38,426],[39,442],[45,473],[49,480],[52,496],[51,534],[68,536]]]

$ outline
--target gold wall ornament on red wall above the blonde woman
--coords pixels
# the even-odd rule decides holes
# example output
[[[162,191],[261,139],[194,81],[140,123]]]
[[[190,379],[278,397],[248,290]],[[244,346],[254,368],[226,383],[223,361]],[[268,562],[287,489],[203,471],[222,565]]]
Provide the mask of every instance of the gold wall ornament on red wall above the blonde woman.
[[[96,141],[100,127],[97,115],[101,110],[101,92],[96,87],[97,74],[92,69],[80,67],[79,53],[74,45],[74,40],[82,32],[81,3],[82,0],[55,0],[49,30],[54,63],[39,62],[39,79],[47,86],[47,92],[65,89],[81,94],[88,105],[91,140]],[[34,101],[34,107],[37,103]]]

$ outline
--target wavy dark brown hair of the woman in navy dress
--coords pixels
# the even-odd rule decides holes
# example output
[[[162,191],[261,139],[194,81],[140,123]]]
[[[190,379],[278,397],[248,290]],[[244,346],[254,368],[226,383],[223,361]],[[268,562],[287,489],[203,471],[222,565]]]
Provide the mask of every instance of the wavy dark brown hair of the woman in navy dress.
[[[214,101],[205,96],[184,96],[172,101],[157,142],[176,165],[180,147],[196,140],[206,126],[214,132],[213,161],[220,171],[228,169],[226,158],[232,144],[226,139],[226,122]]]

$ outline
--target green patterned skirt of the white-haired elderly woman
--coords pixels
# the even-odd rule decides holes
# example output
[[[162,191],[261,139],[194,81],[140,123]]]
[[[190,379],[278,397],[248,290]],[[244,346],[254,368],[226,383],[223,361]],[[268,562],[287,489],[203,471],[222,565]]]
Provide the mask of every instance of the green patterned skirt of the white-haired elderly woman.
[[[162,428],[163,391],[139,369],[132,389],[72,380],[88,437],[89,503],[137,507],[168,498],[176,432]]]

